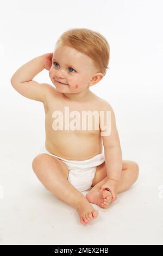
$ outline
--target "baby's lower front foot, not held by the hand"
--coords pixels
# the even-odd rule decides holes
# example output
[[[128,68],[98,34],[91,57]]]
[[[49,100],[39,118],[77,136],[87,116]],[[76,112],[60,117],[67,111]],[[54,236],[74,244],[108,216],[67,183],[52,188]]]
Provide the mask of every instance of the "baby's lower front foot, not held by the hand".
[[[98,216],[98,211],[93,209],[92,205],[88,202],[86,198],[79,201],[77,205],[77,211],[80,217],[80,222],[86,224],[94,220]]]

